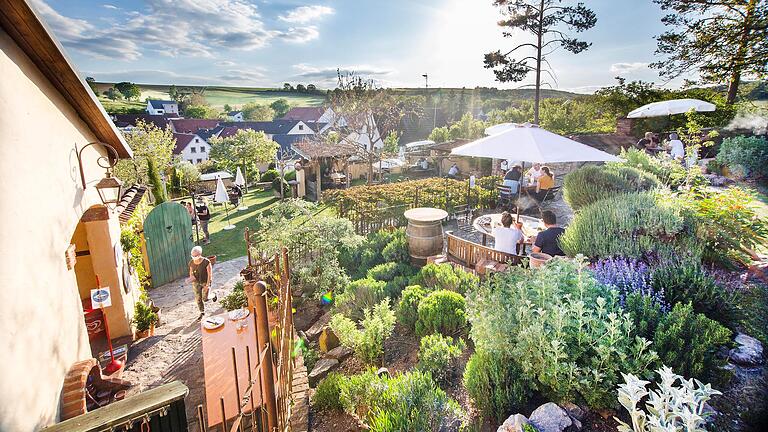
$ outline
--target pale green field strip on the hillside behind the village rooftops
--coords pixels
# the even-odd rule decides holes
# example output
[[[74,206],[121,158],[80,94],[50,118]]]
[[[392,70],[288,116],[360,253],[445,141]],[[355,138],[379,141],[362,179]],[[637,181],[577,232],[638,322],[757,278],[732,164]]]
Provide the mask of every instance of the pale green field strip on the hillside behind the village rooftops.
[[[112,83],[97,83],[100,93],[111,87]],[[146,98],[169,99],[167,85],[147,85],[139,84],[141,88],[141,97],[139,101],[110,101],[104,96],[99,96],[104,109],[114,111],[120,109],[134,108],[143,109]],[[178,86],[179,88],[187,86]],[[249,87],[193,87],[202,91],[205,100],[213,107],[223,109],[224,105],[233,108],[239,108],[247,103],[255,102],[257,104],[269,105],[278,99],[286,99],[291,106],[320,106],[325,101],[324,96],[286,92],[282,89],[268,88],[249,88]]]

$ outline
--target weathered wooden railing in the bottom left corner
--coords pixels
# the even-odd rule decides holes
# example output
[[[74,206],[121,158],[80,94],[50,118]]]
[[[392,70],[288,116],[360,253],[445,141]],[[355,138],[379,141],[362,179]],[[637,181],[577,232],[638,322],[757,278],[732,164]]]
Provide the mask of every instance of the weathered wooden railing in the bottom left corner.
[[[184,398],[189,389],[179,381],[147,390],[43,429],[44,432],[187,431]]]

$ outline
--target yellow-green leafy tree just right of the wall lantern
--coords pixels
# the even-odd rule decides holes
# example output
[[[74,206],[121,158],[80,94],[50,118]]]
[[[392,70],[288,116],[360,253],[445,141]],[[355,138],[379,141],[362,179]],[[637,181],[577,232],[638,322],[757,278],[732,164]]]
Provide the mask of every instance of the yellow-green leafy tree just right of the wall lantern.
[[[133,159],[122,159],[115,167],[115,174],[126,183],[150,183],[147,174],[147,161],[160,171],[171,166],[171,153],[176,147],[176,138],[170,127],[160,129],[143,120],[136,122],[136,127],[123,132],[125,140],[133,150]]]

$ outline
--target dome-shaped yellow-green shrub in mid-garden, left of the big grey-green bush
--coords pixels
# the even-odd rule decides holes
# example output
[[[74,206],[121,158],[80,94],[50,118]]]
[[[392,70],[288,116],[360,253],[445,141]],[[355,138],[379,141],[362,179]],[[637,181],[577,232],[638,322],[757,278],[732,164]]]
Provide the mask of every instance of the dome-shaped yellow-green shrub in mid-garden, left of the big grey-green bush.
[[[428,294],[419,303],[416,334],[460,334],[467,326],[465,307],[464,297],[459,293],[438,290]]]

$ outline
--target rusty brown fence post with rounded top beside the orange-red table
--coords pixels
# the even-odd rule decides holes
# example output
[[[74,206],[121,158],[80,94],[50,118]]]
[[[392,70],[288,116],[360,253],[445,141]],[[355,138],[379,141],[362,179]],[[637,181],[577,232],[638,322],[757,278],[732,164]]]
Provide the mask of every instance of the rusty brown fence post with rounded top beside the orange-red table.
[[[272,352],[269,341],[269,315],[267,312],[267,285],[263,281],[253,284],[254,313],[256,314],[256,343],[259,347],[257,356],[261,357],[264,349],[268,350],[261,363],[261,372],[264,378],[264,392],[262,401],[267,411],[267,430],[273,431],[278,427],[277,424],[277,404],[275,395],[275,373],[272,364]]]

